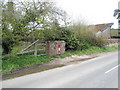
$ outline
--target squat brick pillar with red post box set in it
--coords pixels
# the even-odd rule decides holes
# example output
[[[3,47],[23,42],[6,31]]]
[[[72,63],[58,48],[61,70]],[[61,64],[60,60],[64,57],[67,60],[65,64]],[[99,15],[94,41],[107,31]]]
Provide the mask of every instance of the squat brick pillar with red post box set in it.
[[[46,44],[46,54],[48,56],[60,55],[65,52],[64,41],[49,41]]]

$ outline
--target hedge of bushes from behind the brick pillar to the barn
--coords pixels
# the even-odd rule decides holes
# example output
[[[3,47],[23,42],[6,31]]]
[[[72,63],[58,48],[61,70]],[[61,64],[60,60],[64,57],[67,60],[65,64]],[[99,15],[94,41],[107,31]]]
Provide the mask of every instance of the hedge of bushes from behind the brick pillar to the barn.
[[[66,50],[84,50],[91,46],[103,47],[105,45],[101,38],[95,37],[88,26],[83,24],[46,30],[44,34],[45,41],[64,40]]]

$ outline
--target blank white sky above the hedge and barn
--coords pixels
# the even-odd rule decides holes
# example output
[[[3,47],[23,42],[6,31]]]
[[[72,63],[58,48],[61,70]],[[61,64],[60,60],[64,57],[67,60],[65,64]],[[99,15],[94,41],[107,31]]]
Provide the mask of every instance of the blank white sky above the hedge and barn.
[[[54,1],[54,0],[53,0]],[[115,23],[114,10],[118,8],[119,0],[55,0],[57,5],[65,10],[71,19],[85,21],[87,24]]]

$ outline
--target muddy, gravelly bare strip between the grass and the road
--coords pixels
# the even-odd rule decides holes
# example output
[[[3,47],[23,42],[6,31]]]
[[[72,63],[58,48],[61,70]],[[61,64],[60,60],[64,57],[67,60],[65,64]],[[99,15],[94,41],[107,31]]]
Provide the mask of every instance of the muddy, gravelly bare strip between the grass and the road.
[[[69,64],[77,64],[82,61],[89,60],[91,58],[102,56],[107,53],[112,53],[115,51],[117,51],[117,48],[115,48],[115,46],[113,46],[111,48],[107,47],[106,50],[100,49],[98,51],[97,50],[94,51],[94,48],[92,48],[92,49],[83,51],[84,54],[82,54],[82,52],[80,52],[80,51],[71,52],[71,53],[69,53],[70,55],[68,55],[68,56],[63,54],[61,56],[57,56],[56,58],[54,58],[51,61],[45,62],[45,63],[40,63],[40,64],[36,64],[33,66],[23,67],[20,69],[12,70],[11,73],[3,75],[3,80],[15,78],[15,77],[19,77],[19,76],[23,76],[23,75],[27,75],[27,74],[31,74],[31,73],[41,72],[41,71],[53,69],[56,67],[69,65]]]

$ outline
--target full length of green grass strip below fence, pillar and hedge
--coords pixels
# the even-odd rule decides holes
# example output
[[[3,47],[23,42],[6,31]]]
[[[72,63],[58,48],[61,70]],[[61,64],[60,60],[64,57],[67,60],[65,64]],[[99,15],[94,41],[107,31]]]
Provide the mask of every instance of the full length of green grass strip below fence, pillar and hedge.
[[[78,50],[78,51],[66,51],[62,55],[58,56],[32,56],[29,54],[24,55],[18,55],[18,56],[7,56],[2,59],[2,69],[3,74],[11,73],[13,70],[21,69],[24,67],[30,67],[36,64],[41,64],[48,62],[50,60],[53,60],[54,58],[64,58],[72,55],[86,55],[86,54],[92,54],[92,53],[98,53],[98,52],[108,52],[108,51],[114,51],[117,50],[118,47],[112,46],[112,47],[105,47],[105,48],[99,48],[99,47],[90,47],[86,50]]]

